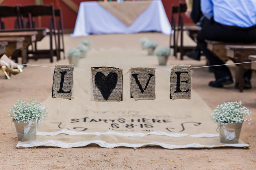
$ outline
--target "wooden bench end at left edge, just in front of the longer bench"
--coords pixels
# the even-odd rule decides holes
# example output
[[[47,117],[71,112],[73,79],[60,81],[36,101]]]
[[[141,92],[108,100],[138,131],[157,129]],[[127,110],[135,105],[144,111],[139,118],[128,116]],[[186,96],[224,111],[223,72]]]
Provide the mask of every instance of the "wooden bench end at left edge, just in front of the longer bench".
[[[7,41],[8,44],[6,45],[6,55],[11,57],[22,48],[22,42],[24,41],[24,37],[1,37],[0,41]],[[15,60],[18,63],[17,60]]]

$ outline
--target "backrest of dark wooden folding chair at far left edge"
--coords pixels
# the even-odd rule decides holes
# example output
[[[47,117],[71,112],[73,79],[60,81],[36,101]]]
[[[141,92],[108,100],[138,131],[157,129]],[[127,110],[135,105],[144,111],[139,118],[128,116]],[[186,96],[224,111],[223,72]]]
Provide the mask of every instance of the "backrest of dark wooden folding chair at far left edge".
[[[7,18],[7,17],[17,17],[15,20],[15,26],[14,28],[21,28],[21,22],[20,22],[20,17],[19,17],[19,7],[18,5],[16,6],[0,6],[0,29],[6,29],[5,23],[2,20],[2,18]]]

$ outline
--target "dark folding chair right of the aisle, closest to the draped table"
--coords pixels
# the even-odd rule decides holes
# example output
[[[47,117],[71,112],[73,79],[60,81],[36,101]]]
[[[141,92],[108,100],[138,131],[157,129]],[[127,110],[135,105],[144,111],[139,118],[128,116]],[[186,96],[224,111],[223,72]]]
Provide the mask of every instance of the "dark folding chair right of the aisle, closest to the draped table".
[[[173,48],[173,55],[177,58],[177,52],[176,52],[176,19],[174,18],[174,14],[178,13],[178,6],[174,6],[172,4],[171,7],[171,35],[170,35],[170,48]],[[173,32],[173,33],[172,33]],[[172,37],[173,37],[173,45],[172,45]]]

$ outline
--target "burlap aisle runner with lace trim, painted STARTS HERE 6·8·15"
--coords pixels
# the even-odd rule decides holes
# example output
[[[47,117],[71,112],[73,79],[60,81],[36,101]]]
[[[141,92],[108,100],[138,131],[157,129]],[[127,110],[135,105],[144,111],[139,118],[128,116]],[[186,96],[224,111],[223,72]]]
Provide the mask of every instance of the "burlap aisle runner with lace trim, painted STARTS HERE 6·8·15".
[[[135,50],[106,50],[104,55],[91,51],[90,55],[80,59],[79,69],[105,65],[128,70],[136,66],[150,68],[157,66],[158,62],[155,56],[147,56],[145,62],[145,56]],[[170,66],[157,69],[170,69]],[[124,74],[124,101],[92,102],[91,71],[74,70],[76,97],[72,100],[56,99],[49,94],[42,103],[49,108],[49,117],[47,122],[42,121],[37,130],[37,140],[19,142],[17,147],[69,148],[91,143],[106,148],[146,145],[164,148],[248,146],[242,142],[221,144],[219,133],[216,132],[217,124],[211,121],[212,111],[198,94],[192,89],[191,100],[170,100],[170,71],[156,71],[155,76],[155,100],[131,99],[130,75]]]

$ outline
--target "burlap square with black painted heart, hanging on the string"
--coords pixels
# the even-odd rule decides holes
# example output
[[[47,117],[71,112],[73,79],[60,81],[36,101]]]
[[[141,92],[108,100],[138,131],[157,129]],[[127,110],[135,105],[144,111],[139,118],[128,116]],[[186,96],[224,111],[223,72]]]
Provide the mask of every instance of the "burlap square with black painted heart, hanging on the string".
[[[122,101],[122,69],[91,68],[91,101]]]

